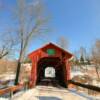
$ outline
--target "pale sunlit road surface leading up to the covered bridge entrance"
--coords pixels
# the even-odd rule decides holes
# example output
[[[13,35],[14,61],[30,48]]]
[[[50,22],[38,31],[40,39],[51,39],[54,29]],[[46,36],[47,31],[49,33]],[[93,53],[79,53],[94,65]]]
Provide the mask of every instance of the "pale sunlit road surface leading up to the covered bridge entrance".
[[[13,96],[12,100],[87,100],[66,89],[50,86],[37,86],[34,89]]]

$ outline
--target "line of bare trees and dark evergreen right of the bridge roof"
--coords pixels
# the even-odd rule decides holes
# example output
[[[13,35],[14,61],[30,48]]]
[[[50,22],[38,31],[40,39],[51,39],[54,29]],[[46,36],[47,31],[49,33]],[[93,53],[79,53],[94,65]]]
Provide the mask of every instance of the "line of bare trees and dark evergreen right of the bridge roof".
[[[84,47],[80,47],[78,51],[74,52],[73,65],[85,67],[86,65],[93,65],[100,80],[100,39],[94,40],[89,53]]]

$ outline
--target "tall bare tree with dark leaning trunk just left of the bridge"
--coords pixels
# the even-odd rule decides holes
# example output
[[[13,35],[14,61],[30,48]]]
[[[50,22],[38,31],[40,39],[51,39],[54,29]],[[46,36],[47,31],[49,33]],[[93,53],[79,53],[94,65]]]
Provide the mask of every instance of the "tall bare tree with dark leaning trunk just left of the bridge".
[[[33,39],[41,36],[41,33],[46,33],[48,18],[44,13],[41,0],[17,0],[16,10],[13,10],[13,15],[16,23],[15,37],[19,48],[16,85],[18,84],[21,62],[24,60],[27,47]]]

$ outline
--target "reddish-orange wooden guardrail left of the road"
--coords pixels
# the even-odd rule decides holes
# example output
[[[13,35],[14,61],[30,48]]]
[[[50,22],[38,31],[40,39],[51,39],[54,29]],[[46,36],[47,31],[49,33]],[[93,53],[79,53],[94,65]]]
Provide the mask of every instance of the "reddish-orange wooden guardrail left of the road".
[[[16,85],[16,86],[11,86],[5,89],[0,89],[0,96],[6,94],[6,93],[10,93],[12,94],[13,92],[20,90],[23,86],[22,85]]]

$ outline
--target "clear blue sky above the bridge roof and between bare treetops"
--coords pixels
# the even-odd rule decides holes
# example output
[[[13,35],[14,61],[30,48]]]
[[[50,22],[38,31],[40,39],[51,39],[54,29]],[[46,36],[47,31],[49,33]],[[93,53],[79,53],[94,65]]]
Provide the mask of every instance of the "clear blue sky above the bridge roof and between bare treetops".
[[[5,5],[15,4],[15,0],[3,0]],[[91,48],[96,39],[100,39],[100,0],[43,0],[51,16],[50,42],[64,36],[69,41],[69,51],[85,47]],[[0,32],[11,25],[8,11],[0,14]],[[29,52],[41,47],[43,41],[34,41]]]

